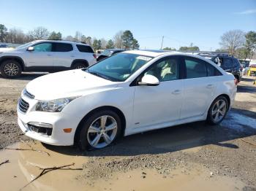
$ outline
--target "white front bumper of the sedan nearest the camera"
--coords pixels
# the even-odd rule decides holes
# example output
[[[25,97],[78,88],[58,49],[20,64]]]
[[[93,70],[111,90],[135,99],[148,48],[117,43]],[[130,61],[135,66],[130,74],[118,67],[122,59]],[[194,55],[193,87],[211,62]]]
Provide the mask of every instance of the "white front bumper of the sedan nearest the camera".
[[[42,141],[46,144],[69,146],[74,144],[75,130],[78,127],[79,121],[75,117],[65,114],[63,112],[36,112],[34,106],[37,101],[26,96],[22,97],[23,100],[29,103],[29,109],[26,114],[18,113],[18,125],[26,136]],[[29,122],[40,122],[52,125],[52,131],[50,136],[45,133],[37,133],[29,128]],[[70,133],[65,133],[65,128],[72,128]]]

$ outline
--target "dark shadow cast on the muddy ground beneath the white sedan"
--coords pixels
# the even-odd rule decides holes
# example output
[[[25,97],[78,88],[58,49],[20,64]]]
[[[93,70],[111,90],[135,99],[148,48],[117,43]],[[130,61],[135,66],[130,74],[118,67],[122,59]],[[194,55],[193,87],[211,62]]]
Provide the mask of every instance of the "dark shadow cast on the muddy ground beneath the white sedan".
[[[241,114],[243,109],[236,109],[230,113]],[[246,111],[248,112],[248,111]],[[255,112],[250,115],[256,116]],[[134,156],[145,154],[160,154],[176,152],[183,149],[200,147],[214,144],[219,147],[238,149],[238,145],[226,143],[233,139],[241,139],[256,135],[256,129],[248,125],[243,130],[233,128],[234,121],[227,116],[230,125],[208,125],[206,122],[192,122],[184,125],[177,125],[170,128],[151,130],[146,133],[139,133],[121,138],[116,144],[104,149],[96,149],[89,152],[81,152],[78,147],[56,147],[43,144],[47,149],[64,155],[86,155],[86,156]],[[225,142],[225,143],[222,143]]]

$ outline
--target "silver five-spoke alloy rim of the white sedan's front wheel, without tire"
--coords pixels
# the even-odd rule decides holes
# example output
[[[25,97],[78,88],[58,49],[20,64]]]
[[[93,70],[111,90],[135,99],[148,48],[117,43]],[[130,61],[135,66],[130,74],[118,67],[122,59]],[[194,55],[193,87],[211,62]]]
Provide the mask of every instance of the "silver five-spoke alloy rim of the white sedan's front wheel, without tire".
[[[117,122],[113,117],[103,115],[89,126],[87,140],[91,147],[97,149],[106,147],[116,138],[117,128]]]

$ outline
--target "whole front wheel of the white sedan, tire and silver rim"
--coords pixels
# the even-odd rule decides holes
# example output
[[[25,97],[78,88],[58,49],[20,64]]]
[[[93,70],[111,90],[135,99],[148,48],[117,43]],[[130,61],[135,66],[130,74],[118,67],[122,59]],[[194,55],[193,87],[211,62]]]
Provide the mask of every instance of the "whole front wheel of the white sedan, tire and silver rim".
[[[121,134],[121,120],[111,110],[97,112],[82,124],[80,149],[102,149],[112,144]]]

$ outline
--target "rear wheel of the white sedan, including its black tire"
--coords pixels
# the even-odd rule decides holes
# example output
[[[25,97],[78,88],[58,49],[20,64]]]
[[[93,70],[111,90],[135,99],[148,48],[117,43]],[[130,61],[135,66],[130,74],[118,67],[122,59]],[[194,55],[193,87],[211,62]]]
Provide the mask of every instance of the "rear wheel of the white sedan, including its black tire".
[[[217,109],[217,102],[219,103],[225,103],[225,108],[221,109]],[[219,104],[221,105],[221,104]],[[225,96],[220,95],[219,97],[217,97],[211,104],[209,110],[208,110],[208,116],[207,116],[207,122],[210,125],[218,125],[220,122],[222,122],[222,120],[225,119],[226,115],[227,115],[227,111],[229,108],[229,103],[227,101],[227,98],[225,98]],[[221,111],[219,112],[219,116],[221,116],[221,118],[217,117],[217,114],[214,114],[215,111]],[[225,113],[224,113],[225,112]],[[217,118],[219,118],[218,120],[216,120]]]

